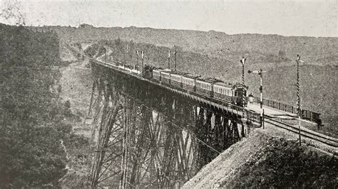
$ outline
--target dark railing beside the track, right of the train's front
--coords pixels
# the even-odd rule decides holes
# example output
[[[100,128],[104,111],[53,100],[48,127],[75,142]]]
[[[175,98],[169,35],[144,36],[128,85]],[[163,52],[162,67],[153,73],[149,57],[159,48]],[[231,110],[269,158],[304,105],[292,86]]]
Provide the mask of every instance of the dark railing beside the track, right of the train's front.
[[[260,97],[254,97],[254,102],[256,102],[257,104],[260,104]],[[293,107],[289,104],[284,104],[281,102],[275,102],[271,99],[263,99],[263,104],[266,107],[272,107],[275,109],[280,109],[284,112],[290,112],[292,114],[297,114],[297,108]],[[309,121],[314,121],[317,124],[322,124],[322,120],[320,119],[320,114],[317,112],[312,112],[306,109],[301,109],[300,110],[302,113],[300,115],[300,117],[302,119],[307,119]]]

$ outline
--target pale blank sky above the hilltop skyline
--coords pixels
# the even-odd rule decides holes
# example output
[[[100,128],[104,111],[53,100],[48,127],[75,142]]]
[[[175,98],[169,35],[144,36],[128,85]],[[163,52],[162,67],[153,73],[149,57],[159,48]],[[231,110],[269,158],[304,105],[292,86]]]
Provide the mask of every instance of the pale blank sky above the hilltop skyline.
[[[97,27],[338,37],[338,0],[0,1],[0,23],[15,24],[15,16],[20,14],[26,26],[88,23]]]

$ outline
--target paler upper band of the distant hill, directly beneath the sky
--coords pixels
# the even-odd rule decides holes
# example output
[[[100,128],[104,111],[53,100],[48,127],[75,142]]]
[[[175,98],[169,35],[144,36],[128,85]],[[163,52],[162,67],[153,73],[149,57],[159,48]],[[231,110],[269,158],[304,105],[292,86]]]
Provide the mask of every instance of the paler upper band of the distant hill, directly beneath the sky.
[[[234,61],[243,55],[255,63],[290,63],[297,54],[314,65],[338,65],[338,38],[285,37],[262,34],[227,35],[217,31],[187,31],[173,29],[113,27],[95,28],[82,24],[79,28],[45,26],[39,29],[53,30],[64,42],[113,40],[150,43],[185,51],[201,53]],[[294,61],[292,61],[294,63]]]

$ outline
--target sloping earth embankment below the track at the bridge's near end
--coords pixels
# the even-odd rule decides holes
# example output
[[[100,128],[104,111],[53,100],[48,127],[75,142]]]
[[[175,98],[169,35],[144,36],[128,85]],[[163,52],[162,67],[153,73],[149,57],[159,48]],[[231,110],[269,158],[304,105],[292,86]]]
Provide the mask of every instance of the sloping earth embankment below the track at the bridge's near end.
[[[183,188],[336,188],[337,156],[267,126],[206,165]]]

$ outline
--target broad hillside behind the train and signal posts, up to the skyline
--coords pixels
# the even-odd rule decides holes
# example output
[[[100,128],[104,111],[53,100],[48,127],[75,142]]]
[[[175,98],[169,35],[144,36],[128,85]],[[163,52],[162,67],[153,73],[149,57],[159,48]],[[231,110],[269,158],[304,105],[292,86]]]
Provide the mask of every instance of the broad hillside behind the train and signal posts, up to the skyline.
[[[267,70],[264,97],[285,104],[296,104],[295,58],[302,55],[300,95],[302,108],[322,114],[324,126],[337,133],[338,38],[285,37],[261,34],[227,35],[216,31],[182,31],[154,28],[95,28],[83,24],[79,28],[44,26],[34,30],[53,30],[61,38],[61,52],[69,45],[98,41],[133,41],[142,45],[122,46],[120,59],[128,46],[128,62],[135,63],[135,50],[145,50],[145,63],[167,67],[167,50],[178,50],[178,70],[227,82],[239,82],[240,58],[247,58],[245,70]],[[152,46],[153,45],[153,46]],[[88,47],[88,45],[86,45]],[[172,60],[173,63],[173,60]],[[259,96],[259,77],[245,75],[245,82]]]

